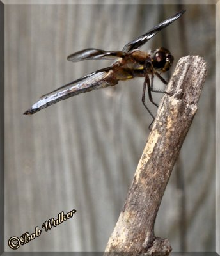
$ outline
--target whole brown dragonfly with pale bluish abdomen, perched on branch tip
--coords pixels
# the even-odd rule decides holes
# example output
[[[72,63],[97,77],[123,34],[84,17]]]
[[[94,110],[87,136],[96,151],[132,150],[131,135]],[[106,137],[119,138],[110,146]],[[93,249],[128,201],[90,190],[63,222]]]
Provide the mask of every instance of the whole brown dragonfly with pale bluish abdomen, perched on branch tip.
[[[153,88],[153,79],[154,76],[157,76],[162,83],[168,84],[168,82],[161,76],[161,73],[169,70],[173,64],[174,58],[168,49],[163,47],[148,52],[140,51],[139,47],[148,42],[148,40],[155,36],[159,31],[179,19],[184,12],[185,10],[182,10],[169,19],[159,23],[157,26],[154,26],[144,35],[127,43],[122,51],[104,51],[101,49],[88,48],[70,54],[67,57],[67,60],[72,62],[84,60],[114,60],[114,62],[109,67],[92,72],[91,74],[83,76],[43,95],[40,100],[24,112],[24,115],[32,115],[41,109],[47,108],[61,100],[78,95],[79,93],[86,93],[92,90],[106,88],[107,86],[115,86],[118,84],[118,81],[124,81],[135,77],[145,77],[142,102],[154,121],[155,117],[145,102],[146,88],[148,89],[150,102],[158,107],[158,104],[153,101],[152,92],[167,92],[155,90]]]

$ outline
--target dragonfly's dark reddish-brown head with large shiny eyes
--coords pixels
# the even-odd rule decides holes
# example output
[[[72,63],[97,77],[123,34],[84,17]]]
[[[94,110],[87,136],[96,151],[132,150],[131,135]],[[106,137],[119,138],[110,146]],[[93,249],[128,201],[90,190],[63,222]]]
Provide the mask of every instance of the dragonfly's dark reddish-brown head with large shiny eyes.
[[[161,72],[168,71],[174,60],[170,52],[162,47],[154,51],[152,59],[153,68]]]

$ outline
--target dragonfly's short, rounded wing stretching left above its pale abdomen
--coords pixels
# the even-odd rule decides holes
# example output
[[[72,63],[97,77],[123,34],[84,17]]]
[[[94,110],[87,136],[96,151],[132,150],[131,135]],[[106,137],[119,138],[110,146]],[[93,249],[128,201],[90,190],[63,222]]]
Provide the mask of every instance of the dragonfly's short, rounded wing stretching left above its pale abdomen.
[[[125,52],[122,51],[104,51],[100,49],[88,48],[79,52],[70,54],[67,57],[68,61],[77,62],[83,60],[114,60],[116,58],[123,58]]]

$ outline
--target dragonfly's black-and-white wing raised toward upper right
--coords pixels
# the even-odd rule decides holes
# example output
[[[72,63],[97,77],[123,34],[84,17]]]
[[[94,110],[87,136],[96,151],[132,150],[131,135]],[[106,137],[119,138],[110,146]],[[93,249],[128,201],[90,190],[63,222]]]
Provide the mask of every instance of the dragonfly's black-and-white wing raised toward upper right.
[[[139,36],[138,38],[136,38],[136,39],[132,40],[131,42],[127,43],[123,47],[122,51],[123,52],[129,52],[129,51],[132,51],[134,49],[138,49],[143,44],[145,44],[148,40],[150,40],[150,38],[152,38],[159,31],[161,31],[163,28],[166,28],[166,26],[169,26],[169,24],[173,23],[175,20],[180,18],[184,14],[184,12],[185,12],[185,10],[182,10],[182,11],[176,13],[173,17],[170,17],[169,19],[164,20],[163,22],[161,22],[157,26],[155,26],[152,29],[150,29],[149,31],[147,31],[144,35]]]

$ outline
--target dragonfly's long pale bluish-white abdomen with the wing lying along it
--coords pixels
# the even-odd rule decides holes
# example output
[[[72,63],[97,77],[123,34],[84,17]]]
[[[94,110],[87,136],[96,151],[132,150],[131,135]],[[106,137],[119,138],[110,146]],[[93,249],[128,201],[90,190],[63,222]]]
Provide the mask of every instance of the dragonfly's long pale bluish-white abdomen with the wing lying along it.
[[[93,72],[89,74],[88,76],[82,77],[82,79],[78,79],[70,84],[70,86],[65,86],[63,90],[60,90],[60,92],[53,93],[52,95],[47,95],[43,97],[43,99],[38,100],[33,106],[24,112],[24,115],[31,115],[38,111],[40,111],[43,108],[47,108],[48,106],[51,106],[52,104],[55,104],[56,102],[59,102],[61,100],[65,100],[69,97],[75,96],[79,93],[85,93],[90,92],[91,90],[104,88],[107,86],[113,86],[115,84],[107,83],[105,80],[105,77],[109,73],[109,70],[111,70],[111,67],[104,68],[102,70],[98,70],[96,72]],[[60,89],[60,88],[59,88]]]

